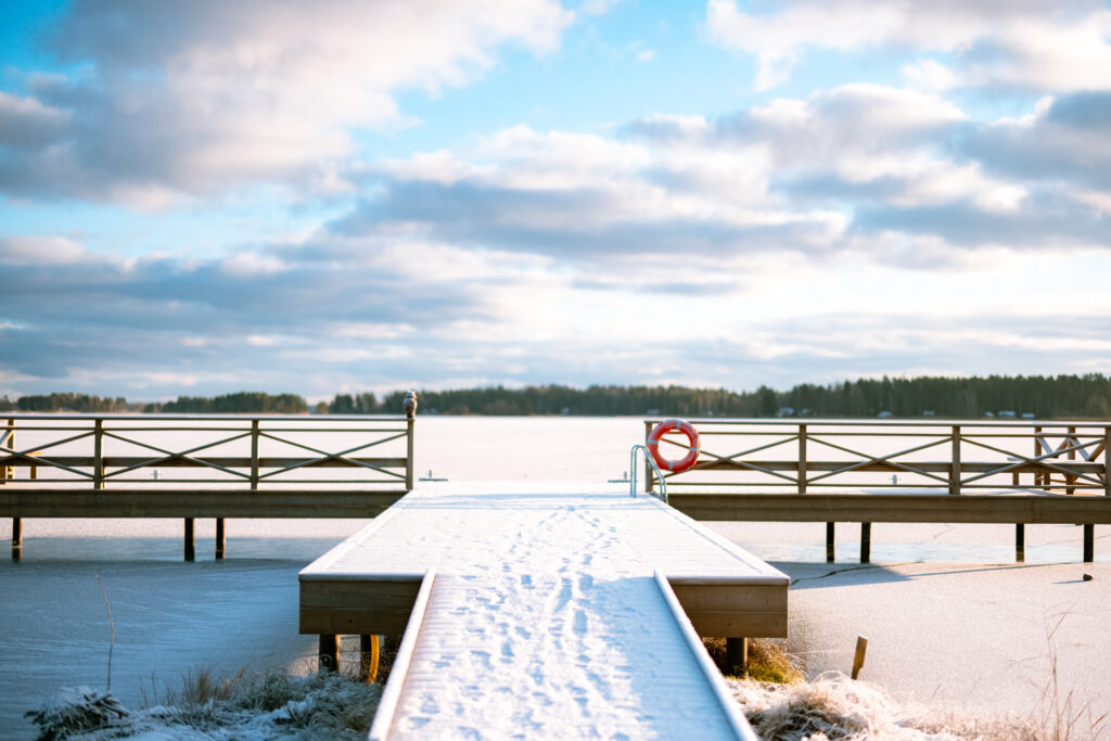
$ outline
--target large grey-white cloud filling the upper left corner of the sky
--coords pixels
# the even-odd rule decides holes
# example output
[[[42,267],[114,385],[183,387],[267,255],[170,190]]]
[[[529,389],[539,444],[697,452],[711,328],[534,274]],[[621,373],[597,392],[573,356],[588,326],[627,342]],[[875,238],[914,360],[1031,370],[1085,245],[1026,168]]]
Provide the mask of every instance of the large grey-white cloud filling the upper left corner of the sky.
[[[148,208],[256,181],[336,192],[356,130],[410,123],[398,91],[468,84],[507,43],[554,50],[572,19],[553,0],[76,2],[52,38],[88,73],[0,98],[0,136],[29,148],[0,189]]]

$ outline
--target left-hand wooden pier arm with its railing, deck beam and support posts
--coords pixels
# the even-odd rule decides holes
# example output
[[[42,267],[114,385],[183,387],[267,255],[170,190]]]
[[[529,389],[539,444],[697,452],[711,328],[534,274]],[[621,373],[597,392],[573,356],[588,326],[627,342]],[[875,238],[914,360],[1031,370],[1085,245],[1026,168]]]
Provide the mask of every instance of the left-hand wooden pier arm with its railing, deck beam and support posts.
[[[8,414],[0,418],[0,517],[366,518],[413,488],[413,415]],[[27,475],[19,475],[21,470]]]

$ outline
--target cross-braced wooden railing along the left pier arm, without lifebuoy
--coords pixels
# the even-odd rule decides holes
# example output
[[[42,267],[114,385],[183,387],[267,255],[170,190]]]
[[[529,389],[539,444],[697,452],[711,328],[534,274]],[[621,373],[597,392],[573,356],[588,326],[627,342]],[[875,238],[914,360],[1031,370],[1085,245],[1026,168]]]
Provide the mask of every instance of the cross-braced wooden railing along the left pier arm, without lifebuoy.
[[[0,420],[0,481],[104,489],[412,489],[404,417],[67,415]],[[27,469],[29,475],[17,477]]]

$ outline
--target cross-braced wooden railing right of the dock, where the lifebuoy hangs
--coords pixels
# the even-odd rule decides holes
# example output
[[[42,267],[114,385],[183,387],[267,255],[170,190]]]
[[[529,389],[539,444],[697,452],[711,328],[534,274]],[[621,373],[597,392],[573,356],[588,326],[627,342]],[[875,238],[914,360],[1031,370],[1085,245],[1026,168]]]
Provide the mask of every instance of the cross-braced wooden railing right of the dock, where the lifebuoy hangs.
[[[645,420],[645,438],[660,420]],[[695,465],[671,487],[707,490],[977,490],[1111,497],[1111,422],[695,420]],[[687,450],[664,435],[662,442]],[[1023,479],[1022,474],[1029,474]],[[645,477],[651,484],[651,477]]]

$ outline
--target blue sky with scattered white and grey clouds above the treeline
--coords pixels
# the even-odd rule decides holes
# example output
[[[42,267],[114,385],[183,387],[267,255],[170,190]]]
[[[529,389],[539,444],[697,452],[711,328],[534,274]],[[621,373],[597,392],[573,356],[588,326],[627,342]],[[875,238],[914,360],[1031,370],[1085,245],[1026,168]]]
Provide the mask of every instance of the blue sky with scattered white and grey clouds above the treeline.
[[[1111,6],[0,0],[0,395],[1111,372]]]

